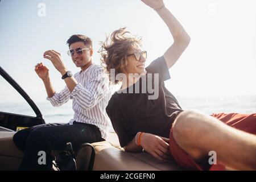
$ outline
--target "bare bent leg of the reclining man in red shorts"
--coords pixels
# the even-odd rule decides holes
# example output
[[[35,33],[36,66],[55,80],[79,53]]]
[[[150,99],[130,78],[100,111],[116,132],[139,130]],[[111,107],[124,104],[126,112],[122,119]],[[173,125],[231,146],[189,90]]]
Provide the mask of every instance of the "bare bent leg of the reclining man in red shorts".
[[[176,143],[196,162],[216,151],[218,162],[226,167],[256,170],[256,135],[196,111],[180,113],[172,132]]]

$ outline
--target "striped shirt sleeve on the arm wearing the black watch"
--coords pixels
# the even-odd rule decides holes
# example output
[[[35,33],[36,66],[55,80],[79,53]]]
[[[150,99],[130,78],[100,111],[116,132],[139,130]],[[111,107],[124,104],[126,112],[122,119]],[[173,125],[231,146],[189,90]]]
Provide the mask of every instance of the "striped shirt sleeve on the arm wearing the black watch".
[[[94,72],[86,86],[77,84],[71,93],[71,98],[84,110],[94,107],[109,93],[109,78],[103,69]]]

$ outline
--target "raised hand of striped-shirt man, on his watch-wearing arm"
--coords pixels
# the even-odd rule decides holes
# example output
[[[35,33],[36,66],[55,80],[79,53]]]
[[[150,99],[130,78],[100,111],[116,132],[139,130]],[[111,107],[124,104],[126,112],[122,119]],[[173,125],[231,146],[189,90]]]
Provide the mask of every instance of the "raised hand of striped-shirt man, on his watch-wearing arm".
[[[60,56],[59,52],[56,52],[54,50],[49,50],[44,52],[44,58],[50,60],[54,67],[61,73],[61,75],[64,75],[67,72],[67,68],[64,65],[64,61]]]

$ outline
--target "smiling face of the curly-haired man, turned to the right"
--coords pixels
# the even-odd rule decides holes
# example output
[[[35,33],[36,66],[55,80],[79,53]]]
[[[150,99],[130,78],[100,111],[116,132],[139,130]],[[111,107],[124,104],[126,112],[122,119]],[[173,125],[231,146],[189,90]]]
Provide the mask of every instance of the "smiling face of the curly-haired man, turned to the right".
[[[137,55],[136,55],[137,54]],[[129,53],[129,56],[127,56],[127,66],[125,69],[125,73],[138,73],[139,75],[141,74],[146,74],[146,69],[145,69],[145,61],[146,57],[142,56],[142,51],[140,48],[132,48]],[[140,55],[140,56],[138,56]],[[136,59],[137,56],[137,59]]]

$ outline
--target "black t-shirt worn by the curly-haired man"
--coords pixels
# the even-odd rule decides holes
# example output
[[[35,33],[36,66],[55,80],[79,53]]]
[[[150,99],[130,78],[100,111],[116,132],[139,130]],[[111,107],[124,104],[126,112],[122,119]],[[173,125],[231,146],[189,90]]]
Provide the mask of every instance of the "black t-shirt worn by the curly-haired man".
[[[137,82],[139,93],[135,92],[135,84],[131,85],[126,89],[126,93],[123,93],[123,90],[121,93],[115,92],[106,107],[121,147],[126,146],[139,131],[169,138],[172,122],[182,111],[176,98],[164,86],[164,81],[170,79],[164,57],[152,61],[146,71],[144,78],[150,80],[149,82],[154,86],[153,90],[157,88],[154,84],[154,78],[157,76],[154,73],[159,75],[157,99],[148,99],[148,96],[155,93],[152,93],[152,90],[146,89],[146,93],[142,91],[143,77],[141,77]],[[130,93],[131,87],[134,93]]]

